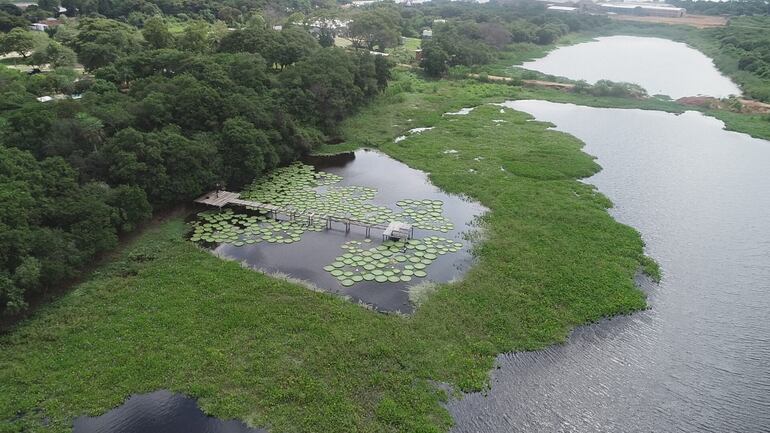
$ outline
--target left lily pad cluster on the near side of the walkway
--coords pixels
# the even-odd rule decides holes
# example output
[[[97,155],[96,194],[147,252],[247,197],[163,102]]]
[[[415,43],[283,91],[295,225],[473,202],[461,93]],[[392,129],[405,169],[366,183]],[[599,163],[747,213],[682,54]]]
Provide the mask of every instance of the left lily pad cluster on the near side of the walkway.
[[[263,215],[201,212],[193,223],[193,242],[229,243],[237,247],[259,242],[290,244],[298,242],[306,231],[321,231],[323,224],[308,226],[306,221],[276,221]]]

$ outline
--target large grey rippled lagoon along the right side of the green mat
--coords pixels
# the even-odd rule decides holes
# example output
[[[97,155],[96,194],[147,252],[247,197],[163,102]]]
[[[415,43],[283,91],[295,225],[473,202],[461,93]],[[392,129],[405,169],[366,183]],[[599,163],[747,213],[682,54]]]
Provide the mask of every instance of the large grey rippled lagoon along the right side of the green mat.
[[[498,357],[455,432],[770,431],[770,142],[700,113],[508,107],[586,143],[586,180],[663,270],[650,309]]]

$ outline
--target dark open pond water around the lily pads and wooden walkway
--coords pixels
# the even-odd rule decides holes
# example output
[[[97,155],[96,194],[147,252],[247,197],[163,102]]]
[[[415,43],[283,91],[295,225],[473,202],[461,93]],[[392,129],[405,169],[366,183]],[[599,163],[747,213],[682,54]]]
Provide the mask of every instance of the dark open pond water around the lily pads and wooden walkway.
[[[438,256],[425,269],[428,275],[424,279],[415,278],[408,283],[361,281],[349,287],[341,285],[323,268],[345,252],[341,248],[345,242],[365,239],[362,227],[353,226],[346,233],[343,225],[334,225],[332,230],[306,232],[301,241],[291,244],[221,244],[214,249],[216,254],[244,262],[255,269],[309,281],[322,290],[350,296],[381,311],[404,313],[412,311],[408,295],[410,285],[426,280],[451,281],[459,278],[470,266],[471,245],[464,239],[464,234],[474,229],[476,217],[484,213],[485,209],[480,204],[441,191],[430,183],[426,173],[376,151],[359,150],[331,157],[310,157],[304,162],[318,170],[342,176],[342,181],[335,186],[376,188],[377,195],[371,202],[393,210],[398,210],[396,202],[402,199],[441,200],[444,203],[443,214],[454,223],[454,229],[446,233],[415,229],[415,238],[440,236],[462,242],[464,247],[459,252]],[[372,230],[371,239],[372,244],[379,244],[381,232]]]

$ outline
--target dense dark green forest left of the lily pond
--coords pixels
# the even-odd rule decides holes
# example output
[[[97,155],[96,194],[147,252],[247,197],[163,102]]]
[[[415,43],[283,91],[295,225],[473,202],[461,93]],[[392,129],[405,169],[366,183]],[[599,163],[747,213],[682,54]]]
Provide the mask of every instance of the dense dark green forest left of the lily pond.
[[[76,276],[153,210],[216,184],[237,189],[333,136],[389,78],[383,57],[323,48],[301,27],[170,27],[162,15],[141,28],[81,17],[0,40],[22,57],[14,62],[51,67],[0,69],[6,314]]]

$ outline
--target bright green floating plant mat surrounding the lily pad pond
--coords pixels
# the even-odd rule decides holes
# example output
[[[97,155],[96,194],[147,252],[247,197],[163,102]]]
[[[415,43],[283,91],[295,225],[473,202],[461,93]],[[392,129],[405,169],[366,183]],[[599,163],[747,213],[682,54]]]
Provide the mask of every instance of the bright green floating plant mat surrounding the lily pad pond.
[[[380,314],[221,260],[172,219],[0,337],[0,431],[69,432],[78,416],[169,389],[271,433],[442,432],[452,420],[436,381],[481,390],[497,354],[645,306],[641,239],[578,181],[599,169],[581,143],[479,106],[518,89],[402,75],[387,92],[347,122],[340,148],[378,145],[490,209],[462,281],[408,318]],[[415,126],[434,129],[393,143]],[[313,235],[326,233],[301,237]]]

